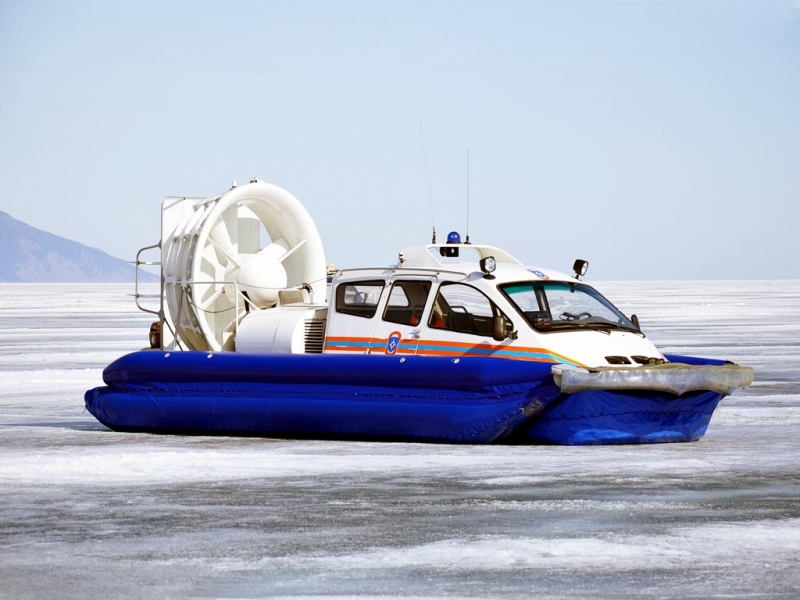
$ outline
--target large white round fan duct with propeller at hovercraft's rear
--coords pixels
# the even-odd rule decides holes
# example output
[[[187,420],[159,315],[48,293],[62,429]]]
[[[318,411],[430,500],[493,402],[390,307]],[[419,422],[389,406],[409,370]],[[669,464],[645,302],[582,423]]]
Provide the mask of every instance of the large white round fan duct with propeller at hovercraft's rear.
[[[262,225],[272,240],[263,248]],[[319,232],[303,205],[278,186],[256,181],[197,202],[162,245],[165,309],[190,349],[233,348],[232,333],[246,314],[235,294],[248,284],[262,306],[274,302],[278,287],[304,287],[312,303],[325,301]],[[254,265],[243,269],[248,259]],[[243,274],[250,281],[241,281]]]

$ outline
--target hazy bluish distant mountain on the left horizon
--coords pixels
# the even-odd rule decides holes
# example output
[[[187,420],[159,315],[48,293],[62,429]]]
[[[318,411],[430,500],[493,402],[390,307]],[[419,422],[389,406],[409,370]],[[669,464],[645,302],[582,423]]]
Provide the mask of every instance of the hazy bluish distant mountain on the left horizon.
[[[157,281],[141,272],[140,281]],[[41,231],[0,211],[0,281],[133,282],[135,268],[124,260]]]

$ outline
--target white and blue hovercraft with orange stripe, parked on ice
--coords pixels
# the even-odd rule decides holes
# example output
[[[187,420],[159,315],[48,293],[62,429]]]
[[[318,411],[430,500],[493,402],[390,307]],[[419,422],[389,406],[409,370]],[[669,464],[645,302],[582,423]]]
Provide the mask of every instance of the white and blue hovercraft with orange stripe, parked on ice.
[[[161,241],[136,263],[137,305],[158,316],[151,347],[85,394],[115,431],[686,442],[753,380],[749,367],[662,354],[580,279],[586,261],[568,275],[451,233],[396,265],[334,272],[305,208],[258,180],[164,199]],[[161,266],[157,308],[139,293],[144,264]]]

